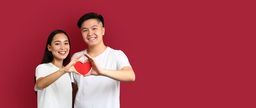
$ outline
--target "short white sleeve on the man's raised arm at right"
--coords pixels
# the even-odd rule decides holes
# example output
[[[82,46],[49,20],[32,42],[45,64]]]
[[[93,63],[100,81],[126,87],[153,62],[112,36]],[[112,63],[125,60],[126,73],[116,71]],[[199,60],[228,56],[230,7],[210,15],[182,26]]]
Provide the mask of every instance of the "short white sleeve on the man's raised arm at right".
[[[126,66],[131,67],[127,56],[121,50],[119,50],[116,55],[116,61],[117,61],[118,70],[121,70],[123,67],[126,67]]]

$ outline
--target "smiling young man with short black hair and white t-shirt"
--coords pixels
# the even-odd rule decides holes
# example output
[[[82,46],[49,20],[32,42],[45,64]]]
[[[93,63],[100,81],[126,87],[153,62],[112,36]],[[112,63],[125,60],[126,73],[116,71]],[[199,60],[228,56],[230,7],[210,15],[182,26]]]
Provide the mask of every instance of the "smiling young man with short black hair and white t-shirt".
[[[88,49],[74,54],[72,58],[84,54],[80,59],[89,61],[92,71],[85,76],[71,75],[74,107],[119,108],[120,81],[135,80],[128,58],[121,50],[104,45],[104,20],[100,14],[83,15],[77,26]]]

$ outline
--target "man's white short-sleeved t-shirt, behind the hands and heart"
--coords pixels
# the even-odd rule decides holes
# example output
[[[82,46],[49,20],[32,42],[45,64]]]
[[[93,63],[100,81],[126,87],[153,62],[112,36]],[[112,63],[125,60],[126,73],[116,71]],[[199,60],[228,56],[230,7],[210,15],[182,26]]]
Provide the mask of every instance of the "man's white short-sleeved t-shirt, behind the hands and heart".
[[[72,56],[85,54],[86,50]],[[72,59],[71,58],[71,59]],[[85,56],[80,58],[87,59]],[[121,50],[114,50],[109,47],[95,60],[103,69],[121,70],[130,66],[128,58]],[[71,73],[71,81],[77,84],[78,90],[75,99],[75,108],[119,108],[120,81],[113,80],[106,76],[79,76]]]

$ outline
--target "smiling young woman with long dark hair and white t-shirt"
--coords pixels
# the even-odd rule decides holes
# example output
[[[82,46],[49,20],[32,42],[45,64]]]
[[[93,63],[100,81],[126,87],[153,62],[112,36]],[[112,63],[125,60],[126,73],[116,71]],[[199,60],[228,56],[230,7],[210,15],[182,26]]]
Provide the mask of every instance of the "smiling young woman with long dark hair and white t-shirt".
[[[43,61],[36,68],[34,89],[38,91],[38,108],[72,108],[70,72],[81,75],[74,65],[76,62],[83,63],[79,60],[83,55],[68,63],[69,52],[70,40],[66,32],[52,31],[47,39]]]

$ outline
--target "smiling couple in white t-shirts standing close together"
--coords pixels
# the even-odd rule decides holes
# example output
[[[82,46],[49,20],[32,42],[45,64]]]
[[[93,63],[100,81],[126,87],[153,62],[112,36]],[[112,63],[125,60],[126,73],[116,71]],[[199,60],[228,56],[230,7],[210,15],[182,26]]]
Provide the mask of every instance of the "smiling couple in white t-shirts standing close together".
[[[122,51],[104,45],[104,20],[100,14],[83,15],[77,26],[88,49],[75,53],[70,63],[66,32],[55,30],[47,39],[35,75],[38,108],[119,108],[120,81],[135,80],[128,58]],[[91,72],[81,76],[74,68],[76,62],[90,62]]]

